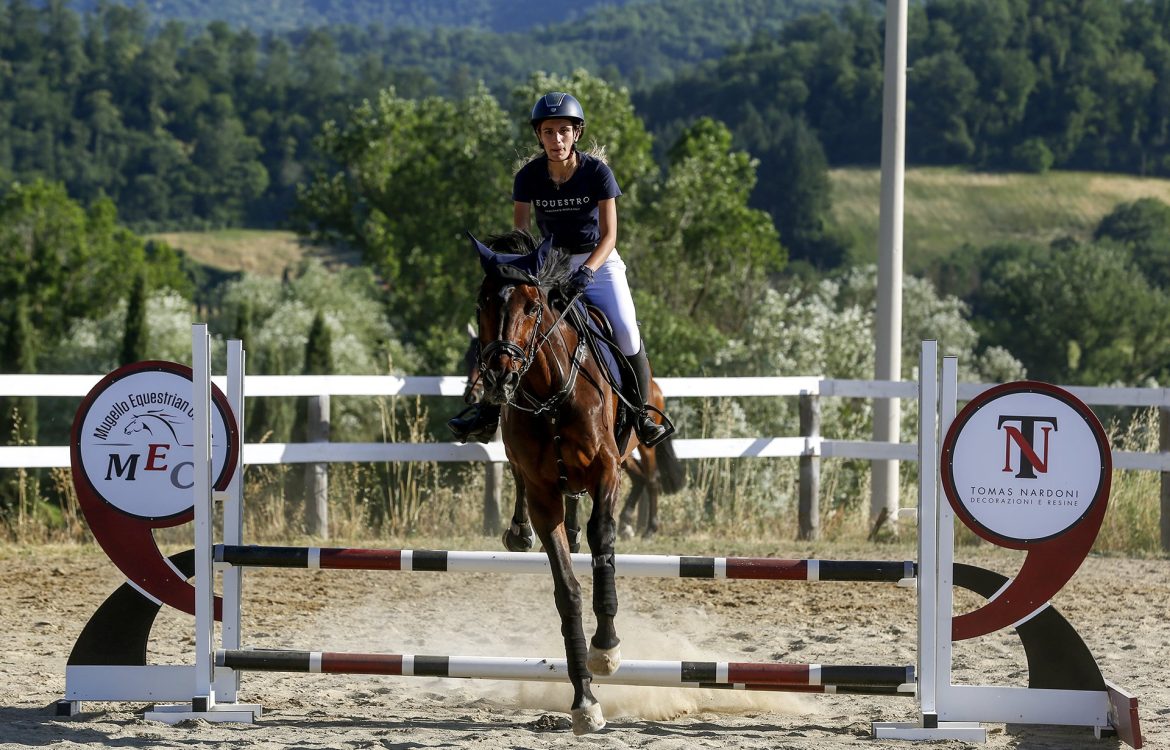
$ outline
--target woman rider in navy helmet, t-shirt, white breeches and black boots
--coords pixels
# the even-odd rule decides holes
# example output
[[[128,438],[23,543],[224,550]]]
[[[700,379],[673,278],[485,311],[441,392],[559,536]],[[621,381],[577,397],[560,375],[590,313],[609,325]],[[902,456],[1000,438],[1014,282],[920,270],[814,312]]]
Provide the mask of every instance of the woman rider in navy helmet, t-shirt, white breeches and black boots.
[[[516,173],[512,183],[512,226],[529,229],[532,208],[536,225],[553,245],[572,253],[567,294],[580,293],[605,314],[614,342],[629,360],[642,405],[634,432],[642,445],[653,446],[667,428],[651,417],[645,404],[651,365],[638,331],[634,300],[626,282],[626,264],[618,255],[618,195],[613,171],[600,158],[577,150],[585,130],[585,110],[572,95],[545,94],[529,118],[543,153]],[[487,442],[500,421],[500,407],[481,405],[470,419],[455,418],[448,426],[460,440]]]

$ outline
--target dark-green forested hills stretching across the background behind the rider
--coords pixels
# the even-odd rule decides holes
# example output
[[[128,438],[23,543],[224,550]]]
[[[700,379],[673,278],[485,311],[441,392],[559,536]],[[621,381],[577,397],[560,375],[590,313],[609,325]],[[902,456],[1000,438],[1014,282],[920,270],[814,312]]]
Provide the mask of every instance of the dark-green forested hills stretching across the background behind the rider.
[[[391,89],[463,102],[467,118],[483,82],[515,138],[531,99],[512,94],[537,71],[625,87],[660,165],[700,117],[724,123],[758,159],[753,207],[792,257],[823,267],[845,250],[826,167],[879,156],[883,19],[867,0],[629,0],[539,32],[263,35],[159,28],[142,6],[78,16],[62,1],[0,0],[0,184],[104,194],[137,228],[285,223],[325,123]],[[1170,0],[914,4],[908,161],[1170,174],[1168,29]]]

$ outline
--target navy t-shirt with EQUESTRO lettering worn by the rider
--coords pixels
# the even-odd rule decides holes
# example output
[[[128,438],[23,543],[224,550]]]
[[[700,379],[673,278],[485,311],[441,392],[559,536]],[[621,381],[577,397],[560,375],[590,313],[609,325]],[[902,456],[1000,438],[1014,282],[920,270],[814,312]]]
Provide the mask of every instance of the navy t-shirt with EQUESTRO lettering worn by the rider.
[[[601,239],[598,204],[621,194],[605,161],[577,152],[577,171],[563,185],[549,177],[549,157],[541,154],[521,167],[512,181],[512,200],[532,204],[536,226],[558,247],[587,252]]]

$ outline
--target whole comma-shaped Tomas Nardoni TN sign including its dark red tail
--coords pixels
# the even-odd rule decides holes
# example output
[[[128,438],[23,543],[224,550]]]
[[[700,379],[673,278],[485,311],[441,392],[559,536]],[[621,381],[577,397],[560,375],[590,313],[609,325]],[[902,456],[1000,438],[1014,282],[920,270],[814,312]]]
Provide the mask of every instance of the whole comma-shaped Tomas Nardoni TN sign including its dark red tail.
[[[1027,550],[991,601],[955,618],[955,640],[1009,627],[1044,607],[1093,549],[1113,459],[1101,422],[1068,391],[1020,380],[984,391],[943,440],[942,484],[955,514],[992,544]]]

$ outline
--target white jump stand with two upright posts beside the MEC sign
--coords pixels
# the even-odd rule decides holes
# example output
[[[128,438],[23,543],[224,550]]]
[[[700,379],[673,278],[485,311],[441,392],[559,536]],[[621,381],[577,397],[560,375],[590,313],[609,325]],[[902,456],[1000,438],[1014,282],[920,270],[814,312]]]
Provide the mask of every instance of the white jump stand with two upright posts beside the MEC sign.
[[[239,344],[239,342],[235,342]],[[261,706],[257,703],[234,703],[216,702],[216,689],[223,686],[222,696],[226,701],[235,701],[235,693],[239,676],[230,672],[221,677],[214,662],[215,647],[215,608],[214,608],[214,571],[212,569],[212,545],[213,538],[213,510],[212,503],[212,380],[211,380],[211,337],[207,326],[197,324],[191,326],[191,370],[192,370],[192,394],[195,411],[194,420],[194,500],[195,500],[195,667],[194,667],[194,691],[191,693],[190,704],[156,706],[153,710],[146,711],[144,717],[149,721],[158,721],[167,724],[177,724],[188,718],[202,718],[209,722],[242,722],[252,723],[261,714]],[[240,411],[236,412],[236,426],[240,426],[243,401],[243,350],[234,348],[236,353],[232,356],[234,365],[238,367],[232,374],[239,384],[229,383],[228,390],[235,392],[239,388]],[[241,433],[242,434],[242,433]],[[222,438],[226,439],[226,435]],[[241,452],[242,455],[242,452]],[[242,459],[241,459],[242,460]],[[228,490],[225,504],[225,514],[228,521],[227,527],[235,527],[233,532],[236,541],[240,536],[240,467],[236,466],[233,490]],[[233,638],[239,641],[240,637],[240,579],[236,577],[230,585],[225,580],[223,591],[223,638]],[[230,604],[228,599],[230,597]],[[227,642],[227,640],[225,640]],[[220,677],[220,679],[216,679]]]

